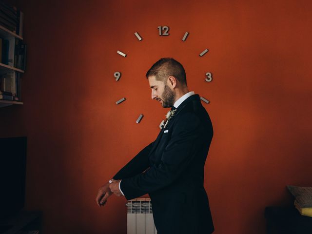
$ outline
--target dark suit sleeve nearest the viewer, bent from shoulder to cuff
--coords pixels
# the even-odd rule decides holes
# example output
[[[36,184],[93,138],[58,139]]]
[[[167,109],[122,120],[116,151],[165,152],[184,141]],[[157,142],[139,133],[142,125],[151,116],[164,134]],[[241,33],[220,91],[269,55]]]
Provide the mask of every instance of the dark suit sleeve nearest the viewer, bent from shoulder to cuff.
[[[196,150],[201,147],[200,121],[195,114],[186,113],[181,116],[172,131],[158,165],[153,165],[145,173],[121,180],[120,188],[128,200],[173,183],[187,169]]]

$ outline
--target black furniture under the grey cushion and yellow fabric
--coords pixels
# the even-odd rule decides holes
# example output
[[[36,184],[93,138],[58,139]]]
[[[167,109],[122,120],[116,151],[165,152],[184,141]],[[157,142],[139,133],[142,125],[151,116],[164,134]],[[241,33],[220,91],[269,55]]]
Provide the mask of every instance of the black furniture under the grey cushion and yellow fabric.
[[[267,234],[312,234],[312,217],[300,215],[293,207],[265,208]]]

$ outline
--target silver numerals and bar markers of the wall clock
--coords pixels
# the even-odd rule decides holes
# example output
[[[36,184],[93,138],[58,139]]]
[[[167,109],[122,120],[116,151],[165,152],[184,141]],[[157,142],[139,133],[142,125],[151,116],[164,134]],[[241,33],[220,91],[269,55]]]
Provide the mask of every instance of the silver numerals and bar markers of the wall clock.
[[[160,37],[168,37],[168,36],[170,36],[170,32],[169,32],[169,31],[170,31],[170,28],[169,28],[168,26],[158,26],[157,29],[158,29],[158,35],[159,35]],[[142,37],[139,35],[138,32],[135,32],[134,35],[137,37],[138,41],[141,41],[141,40],[142,40]],[[188,36],[189,36],[189,32],[185,32],[184,35],[183,35],[183,37],[182,37],[182,41],[185,42],[185,41],[187,40]],[[207,48],[205,48],[205,49],[203,49],[203,51],[201,51],[198,55],[199,55],[200,57],[203,57],[203,56],[204,56],[205,54],[207,54],[208,52],[209,52],[209,50],[208,50]],[[119,51],[119,50],[117,50],[117,54],[118,54],[119,56],[124,57],[124,58],[127,57],[127,54],[124,53],[124,51]],[[116,80],[116,81],[119,81],[119,79],[121,78],[121,75],[122,75],[121,71],[116,71],[116,72],[114,73],[114,78],[115,78],[115,80]],[[203,75],[204,75],[204,79],[203,79],[204,82],[211,82],[211,81],[213,80],[213,74],[212,74],[211,72],[209,72],[209,71],[208,71],[208,72],[204,72]],[[119,82],[120,82],[120,81],[119,81]],[[203,102],[207,103],[207,104],[210,103],[209,100],[207,100],[206,98],[204,98],[204,97],[202,97],[202,96],[200,96],[200,99],[201,99]],[[119,100],[116,101],[116,104],[119,105],[120,103],[124,102],[125,100],[126,100],[126,98],[120,98]],[[139,114],[139,116],[138,116],[138,118],[137,118],[137,120],[136,120],[136,123],[140,123],[140,121],[142,120],[143,117],[144,117],[143,114]],[[159,128],[160,128],[160,129],[163,127],[164,121],[165,121],[165,120],[162,120],[161,123],[159,124]]]

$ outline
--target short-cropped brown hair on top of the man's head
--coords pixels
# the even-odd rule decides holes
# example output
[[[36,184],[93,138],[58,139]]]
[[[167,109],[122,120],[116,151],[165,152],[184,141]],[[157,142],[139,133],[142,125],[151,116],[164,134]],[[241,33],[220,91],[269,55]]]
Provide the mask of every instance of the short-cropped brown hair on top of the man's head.
[[[185,70],[181,63],[173,58],[162,58],[156,61],[146,73],[146,78],[155,76],[156,80],[166,81],[169,76],[175,77],[182,85],[187,85]]]

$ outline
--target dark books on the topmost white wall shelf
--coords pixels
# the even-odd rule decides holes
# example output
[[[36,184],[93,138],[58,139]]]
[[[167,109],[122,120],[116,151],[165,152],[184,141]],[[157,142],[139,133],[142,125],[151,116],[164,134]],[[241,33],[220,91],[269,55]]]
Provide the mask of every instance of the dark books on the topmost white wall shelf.
[[[20,10],[0,1],[0,25],[22,37],[23,21],[24,14]]]

